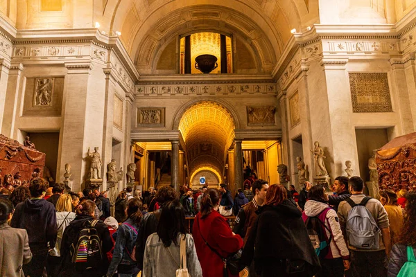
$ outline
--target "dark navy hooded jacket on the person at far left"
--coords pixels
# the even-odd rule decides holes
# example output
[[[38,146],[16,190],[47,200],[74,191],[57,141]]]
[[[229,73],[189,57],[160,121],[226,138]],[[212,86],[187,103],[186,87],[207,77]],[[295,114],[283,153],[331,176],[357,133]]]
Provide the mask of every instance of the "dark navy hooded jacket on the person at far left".
[[[17,204],[10,226],[28,232],[31,251],[55,247],[57,226],[55,206],[45,199],[26,199]]]

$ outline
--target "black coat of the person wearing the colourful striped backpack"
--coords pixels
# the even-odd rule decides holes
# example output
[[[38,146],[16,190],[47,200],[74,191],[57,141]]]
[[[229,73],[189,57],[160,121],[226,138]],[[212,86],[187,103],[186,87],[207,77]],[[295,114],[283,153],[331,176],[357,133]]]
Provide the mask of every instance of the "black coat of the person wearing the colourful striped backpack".
[[[75,220],[69,223],[69,226],[65,228],[64,234],[62,235],[61,242],[61,257],[62,265],[60,268],[59,276],[89,276],[89,277],[101,277],[107,273],[108,266],[110,262],[107,259],[106,253],[112,249],[112,240],[110,238],[110,231],[107,229],[107,225],[101,220],[98,220],[94,228],[98,232],[98,236],[101,239],[101,252],[103,253],[103,263],[99,267],[99,270],[95,269],[94,271],[89,272],[77,272],[74,264],[71,262],[71,244],[77,244],[78,242],[78,233],[83,229],[83,224],[87,220],[94,220],[93,217],[89,215],[77,215]]]

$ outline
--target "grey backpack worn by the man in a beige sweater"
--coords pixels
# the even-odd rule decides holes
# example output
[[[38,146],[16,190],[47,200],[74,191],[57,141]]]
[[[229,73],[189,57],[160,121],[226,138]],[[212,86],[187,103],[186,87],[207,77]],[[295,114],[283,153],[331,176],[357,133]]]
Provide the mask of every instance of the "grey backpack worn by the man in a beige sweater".
[[[346,199],[352,206],[347,216],[347,238],[349,245],[357,249],[379,249],[381,231],[370,211],[365,208],[370,199],[372,197],[364,197],[360,204]]]

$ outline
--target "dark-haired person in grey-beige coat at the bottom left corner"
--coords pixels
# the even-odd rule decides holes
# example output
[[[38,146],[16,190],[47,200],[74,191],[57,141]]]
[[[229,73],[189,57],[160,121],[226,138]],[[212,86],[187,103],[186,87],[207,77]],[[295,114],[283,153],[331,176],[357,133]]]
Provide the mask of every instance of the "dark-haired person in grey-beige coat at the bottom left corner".
[[[32,252],[27,231],[8,226],[12,213],[12,202],[0,199],[0,276],[24,277],[22,266],[31,261]]]

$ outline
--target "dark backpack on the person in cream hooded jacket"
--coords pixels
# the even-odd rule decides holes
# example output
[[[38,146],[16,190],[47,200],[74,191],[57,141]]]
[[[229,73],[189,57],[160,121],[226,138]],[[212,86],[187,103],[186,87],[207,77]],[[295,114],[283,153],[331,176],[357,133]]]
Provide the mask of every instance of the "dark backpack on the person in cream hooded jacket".
[[[326,215],[328,211],[329,211],[329,208],[322,211],[322,213],[325,213]],[[320,213],[319,215],[315,217],[308,217],[305,222],[309,238],[311,239],[311,242],[313,245],[313,249],[315,249],[315,253],[316,255],[318,255],[320,259],[323,259],[325,258],[325,256],[327,256],[329,252],[329,245],[331,244],[331,240],[332,240],[331,230],[329,230],[328,227],[325,225],[325,223],[319,219],[319,216],[322,213]],[[327,238],[327,234],[325,230],[329,231],[330,233],[329,238]]]

